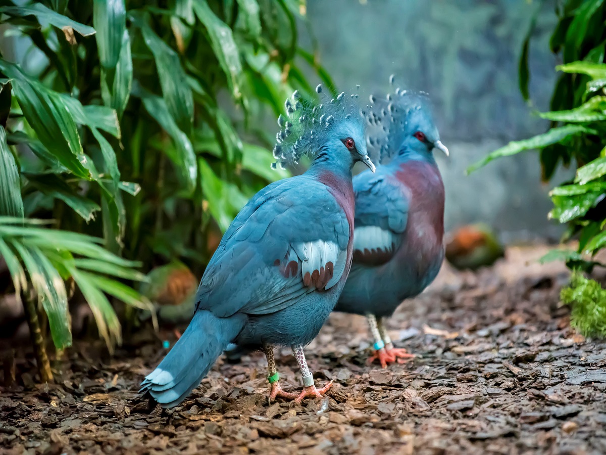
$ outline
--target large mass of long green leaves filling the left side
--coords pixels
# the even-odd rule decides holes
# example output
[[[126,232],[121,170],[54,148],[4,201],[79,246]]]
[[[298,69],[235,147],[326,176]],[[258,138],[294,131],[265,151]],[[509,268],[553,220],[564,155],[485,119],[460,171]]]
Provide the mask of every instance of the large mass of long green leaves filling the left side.
[[[71,336],[65,280],[112,346],[107,295],[148,303],[129,287],[143,277],[135,266],[180,259],[201,271],[207,237],[288,176],[269,169],[262,115],[294,89],[313,92],[305,66],[332,85],[298,48],[299,3],[1,2],[28,48],[0,58],[0,215],[16,217],[0,220],[1,255],[18,291],[33,283],[56,346]]]

